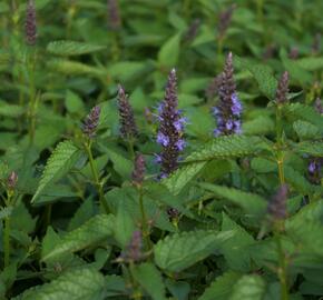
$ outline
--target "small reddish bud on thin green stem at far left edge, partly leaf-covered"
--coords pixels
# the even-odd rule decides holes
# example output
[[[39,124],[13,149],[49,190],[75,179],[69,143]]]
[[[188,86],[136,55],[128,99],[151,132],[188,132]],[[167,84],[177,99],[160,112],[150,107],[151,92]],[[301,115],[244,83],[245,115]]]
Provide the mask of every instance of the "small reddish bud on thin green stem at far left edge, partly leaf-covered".
[[[13,203],[14,189],[18,182],[18,176],[16,172],[11,172],[7,179],[7,199],[4,204],[10,208]],[[3,227],[3,252],[4,252],[4,268],[10,264],[10,216],[4,218]]]

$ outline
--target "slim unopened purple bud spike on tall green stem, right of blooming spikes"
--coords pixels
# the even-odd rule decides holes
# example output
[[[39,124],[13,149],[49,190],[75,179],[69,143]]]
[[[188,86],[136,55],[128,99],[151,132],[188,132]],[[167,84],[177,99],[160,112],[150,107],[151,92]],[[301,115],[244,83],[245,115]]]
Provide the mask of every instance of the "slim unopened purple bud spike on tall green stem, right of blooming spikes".
[[[276,161],[278,166],[280,182],[283,184],[285,182],[284,177],[284,151],[283,151],[283,107],[287,103],[287,93],[288,93],[288,82],[290,74],[284,72],[278,81],[276,90]]]

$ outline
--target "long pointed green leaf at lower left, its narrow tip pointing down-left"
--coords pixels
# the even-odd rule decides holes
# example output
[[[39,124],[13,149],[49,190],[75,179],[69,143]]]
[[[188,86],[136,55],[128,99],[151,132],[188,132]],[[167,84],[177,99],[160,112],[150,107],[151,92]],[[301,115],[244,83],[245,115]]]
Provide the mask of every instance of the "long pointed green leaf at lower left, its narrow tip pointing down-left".
[[[114,232],[114,222],[115,218],[111,214],[95,216],[78,229],[68,232],[49,253],[42,257],[42,260],[80,251],[106,240]]]

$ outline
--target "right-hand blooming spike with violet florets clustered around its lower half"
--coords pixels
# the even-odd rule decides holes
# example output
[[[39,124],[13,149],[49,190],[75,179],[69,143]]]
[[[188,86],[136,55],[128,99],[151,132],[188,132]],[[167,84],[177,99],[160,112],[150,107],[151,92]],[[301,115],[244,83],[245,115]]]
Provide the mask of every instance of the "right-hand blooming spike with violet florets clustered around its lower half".
[[[233,56],[228,53],[223,73],[218,77],[218,104],[213,108],[213,114],[217,121],[214,136],[229,136],[241,133],[242,103],[236,93],[233,78]]]

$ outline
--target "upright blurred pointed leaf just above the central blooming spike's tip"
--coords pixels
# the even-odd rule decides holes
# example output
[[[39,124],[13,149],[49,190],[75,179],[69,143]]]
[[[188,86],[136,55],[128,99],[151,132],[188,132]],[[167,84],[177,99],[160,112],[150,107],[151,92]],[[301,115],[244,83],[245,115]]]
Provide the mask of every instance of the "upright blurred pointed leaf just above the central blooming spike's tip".
[[[174,68],[179,57],[180,34],[176,34],[167,40],[158,52],[158,62],[163,67]]]

